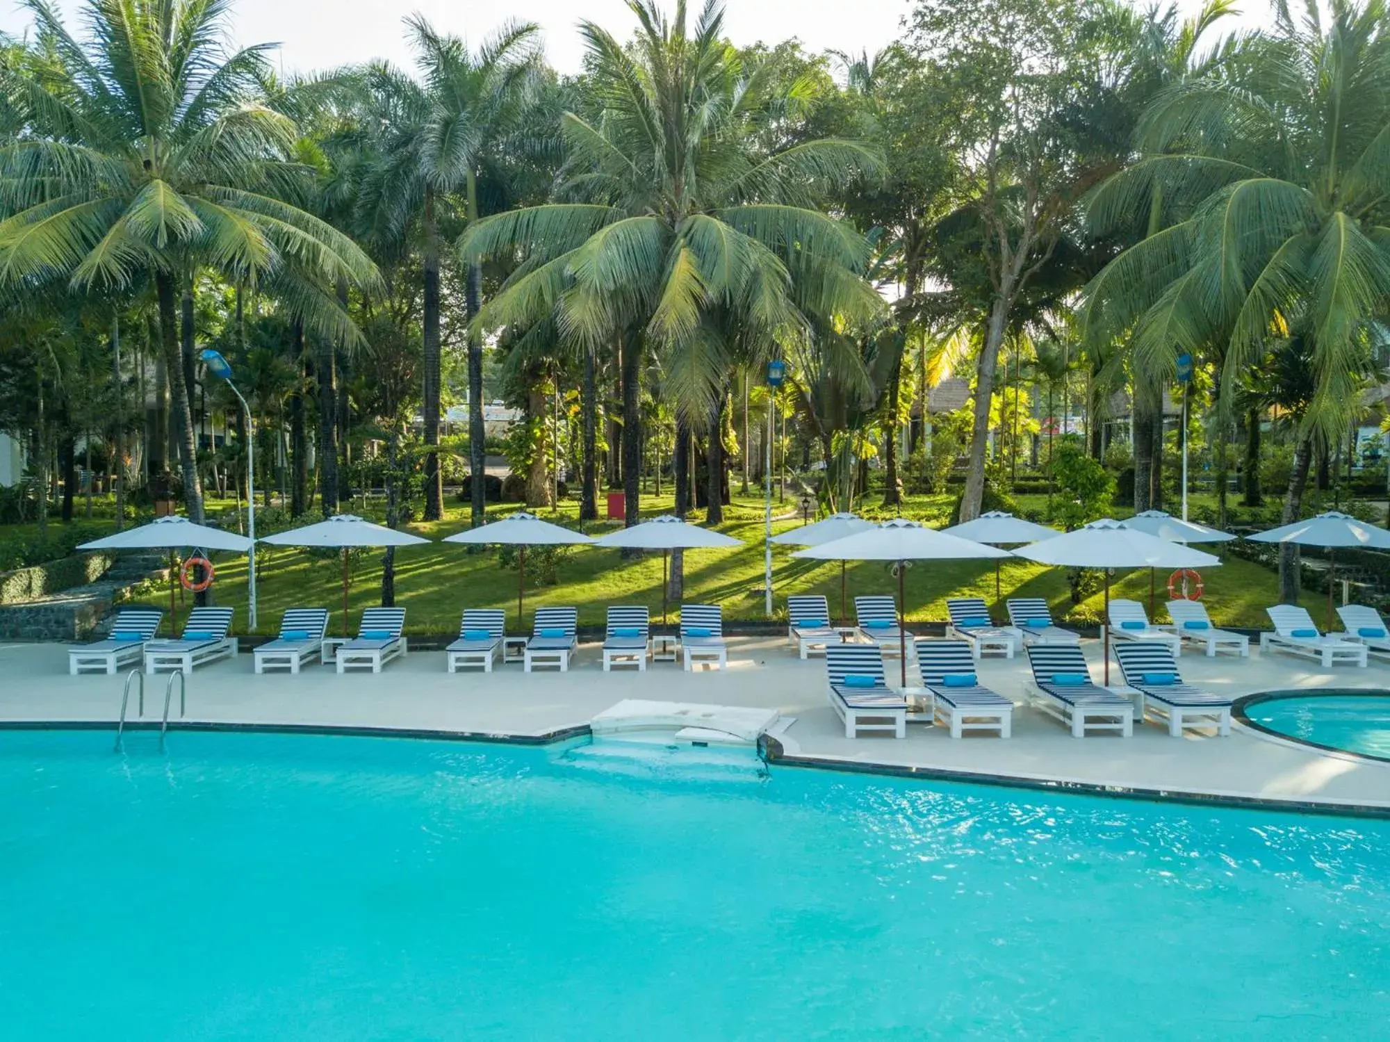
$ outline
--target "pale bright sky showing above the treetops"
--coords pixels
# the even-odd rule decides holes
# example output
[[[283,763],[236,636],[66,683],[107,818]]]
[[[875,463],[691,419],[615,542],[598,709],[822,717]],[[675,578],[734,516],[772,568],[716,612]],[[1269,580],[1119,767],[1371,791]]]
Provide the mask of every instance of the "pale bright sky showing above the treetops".
[[[699,0],[691,0],[696,7]],[[71,14],[81,0],[57,0]],[[1201,0],[1177,0],[1184,13]],[[674,6],[674,4],[670,4]],[[777,42],[796,36],[812,51],[827,49],[855,54],[878,50],[898,35],[910,0],[728,0],[726,26],[737,44]],[[1268,0],[1245,0],[1245,10],[1264,13]],[[507,19],[534,21],[545,35],[550,64],[562,72],[575,72],[582,58],[574,26],[588,18],[619,39],[632,28],[632,15],[623,0],[502,0],[470,4],[460,0],[234,0],[232,33],[238,43],[281,44],[272,58],[282,72],[307,72],[388,58],[399,65],[411,63],[402,31],[402,18],[420,11],[436,29],[459,33],[470,42],[486,38]],[[1243,19],[1255,19],[1247,15]],[[0,32],[18,35],[29,25],[26,13],[14,0],[0,0]]]

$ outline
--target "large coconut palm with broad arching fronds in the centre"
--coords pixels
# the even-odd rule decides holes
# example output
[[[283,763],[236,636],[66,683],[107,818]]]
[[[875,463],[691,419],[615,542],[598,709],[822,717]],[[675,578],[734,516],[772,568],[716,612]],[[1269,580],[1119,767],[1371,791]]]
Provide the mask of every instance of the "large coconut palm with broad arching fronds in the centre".
[[[480,329],[555,313],[563,336],[619,356],[626,517],[635,524],[649,349],[666,353],[682,415],[702,420],[728,377],[721,331],[738,324],[766,360],[808,315],[856,321],[880,300],[860,275],[863,236],[812,208],[820,186],[874,169],[873,150],[835,139],[764,147],[805,111],[805,86],[745,65],[721,39],[714,0],[692,31],[684,3],[670,19],[652,0],[628,7],[638,32],[627,47],[581,24],[596,113],[563,117],[563,201],[484,218],[459,249],[470,261],[521,257],[478,314]]]

